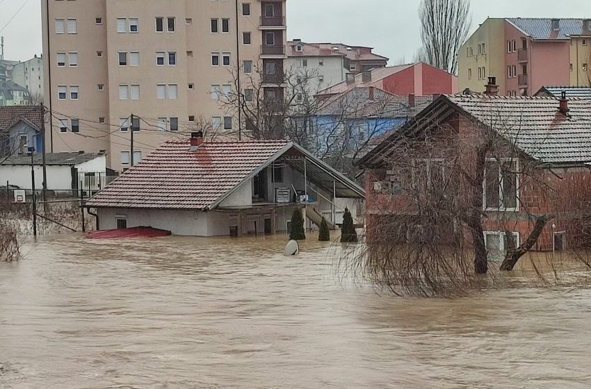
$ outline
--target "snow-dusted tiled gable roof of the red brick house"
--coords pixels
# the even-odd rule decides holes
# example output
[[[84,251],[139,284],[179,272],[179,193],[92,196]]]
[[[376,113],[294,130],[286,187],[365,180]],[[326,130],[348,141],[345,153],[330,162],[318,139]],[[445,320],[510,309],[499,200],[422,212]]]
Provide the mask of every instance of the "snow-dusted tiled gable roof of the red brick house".
[[[401,133],[429,126],[432,120],[443,122],[454,112],[473,117],[494,129],[515,146],[542,163],[588,163],[591,161],[591,102],[569,101],[569,116],[558,111],[552,97],[490,97],[483,94],[443,95],[433,101]],[[387,155],[398,133],[392,134],[359,165],[376,163]]]

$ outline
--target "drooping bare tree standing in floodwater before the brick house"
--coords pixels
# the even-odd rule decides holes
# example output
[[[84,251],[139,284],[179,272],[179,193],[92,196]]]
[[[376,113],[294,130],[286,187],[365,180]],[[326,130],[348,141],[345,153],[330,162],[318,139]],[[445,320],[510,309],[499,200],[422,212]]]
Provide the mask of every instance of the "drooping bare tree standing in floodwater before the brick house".
[[[424,117],[424,131],[389,142],[366,172],[373,190],[365,245],[346,250],[341,264],[398,295],[431,297],[490,288],[526,254],[539,279],[557,276],[557,256],[532,250],[542,239],[549,246],[554,220],[568,221],[574,247],[588,242],[588,177],[576,169],[559,177],[524,154],[511,141],[519,124],[503,127],[502,116],[495,129],[473,121],[459,133]],[[588,266],[588,251],[576,257]]]

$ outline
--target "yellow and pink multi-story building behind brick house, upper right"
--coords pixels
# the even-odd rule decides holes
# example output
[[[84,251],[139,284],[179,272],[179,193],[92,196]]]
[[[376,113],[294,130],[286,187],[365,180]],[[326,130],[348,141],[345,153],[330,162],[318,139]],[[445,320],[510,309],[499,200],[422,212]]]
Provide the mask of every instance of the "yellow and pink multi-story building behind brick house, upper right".
[[[543,85],[590,85],[591,19],[486,19],[462,45],[460,90],[535,94]]]

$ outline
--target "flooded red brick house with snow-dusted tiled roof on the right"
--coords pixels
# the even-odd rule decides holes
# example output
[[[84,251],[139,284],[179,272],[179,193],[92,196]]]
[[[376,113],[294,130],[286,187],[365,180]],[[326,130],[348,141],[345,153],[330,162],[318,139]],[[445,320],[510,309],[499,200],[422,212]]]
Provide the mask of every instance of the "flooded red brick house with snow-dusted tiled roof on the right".
[[[494,80],[487,90],[494,92],[491,84]],[[454,178],[449,161],[467,176],[474,174],[477,154],[471,144],[485,133],[492,133],[499,144],[484,156],[478,210],[489,256],[507,249],[504,231],[512,231],[519,245],[542,215],[553,215],[553,220],[533,249],[586,245],[581,212],[591,199],[591,102],[489,94],[438,97],[359,161],[366,171],[368,237],[381,220],[412,224],[425,201],[421,188],[428,188],[433,177],[446,177],[442,181],[453,185],[460,208],[478,198],[471,194],[480,181],[471,186],[467,179]],[[401,151],[404,156],[398,155]],[[405,159],[408,168],[401,165]]]

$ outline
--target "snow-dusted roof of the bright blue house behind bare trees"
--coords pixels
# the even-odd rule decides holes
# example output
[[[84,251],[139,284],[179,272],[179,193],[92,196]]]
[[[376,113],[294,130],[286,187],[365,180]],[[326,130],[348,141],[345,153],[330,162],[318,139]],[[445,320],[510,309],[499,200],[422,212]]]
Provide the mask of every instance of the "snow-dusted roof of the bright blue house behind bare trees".
[[[370,88],[353,88],[341,94],[335,94],[322,101],[318,115],[346,115],[350,117],[408,117],[419,113],[433,101],[432,97],[414,97],[415,104],[410,106],[409,98],[396,96],[373,88],[373,100],[370,99]]]

